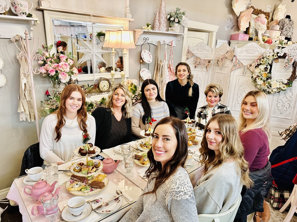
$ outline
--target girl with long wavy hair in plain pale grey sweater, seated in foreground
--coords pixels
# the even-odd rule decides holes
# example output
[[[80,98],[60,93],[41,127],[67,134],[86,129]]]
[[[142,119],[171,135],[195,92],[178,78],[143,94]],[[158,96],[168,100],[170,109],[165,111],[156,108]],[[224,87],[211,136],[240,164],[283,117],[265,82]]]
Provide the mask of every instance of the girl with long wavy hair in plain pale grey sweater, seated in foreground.
[[[236,202],[243,185],[252,185],[235,118],[213,116],[206,124],[199,151],[204,166],[196,174],[198,181],[192,181],[197,212],[222,213]]]

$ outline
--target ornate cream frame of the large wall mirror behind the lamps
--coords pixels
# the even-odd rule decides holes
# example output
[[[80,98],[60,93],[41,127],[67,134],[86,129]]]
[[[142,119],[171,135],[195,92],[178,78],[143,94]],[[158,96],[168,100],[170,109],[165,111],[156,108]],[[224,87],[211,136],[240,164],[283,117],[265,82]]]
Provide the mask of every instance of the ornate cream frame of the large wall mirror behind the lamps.
[[[129,19],[119,18],[119,17],[104,17],[104,16],[94,16],[91,18],[89,15],[65,13],[65,12],[56,12],[56,11],[43,11],[44,23],[45,23],[45,36],[46,44],[48,46],[55,45],[54,36],[53,36],[53,19],[66,19],[73,21],[82,21],[82,22],[94,22],[108,25],[119,25],[123,26],[124,30],[129,30]],[[53,49],[54,50],[54,49]],[[125,67],[125,77],[129,77],[129,49],[127,49]],[[121,78],[121,72],[116,72],[114,78]],[[104,77],[111,78],[110,73],[96,73],[95,78]],[[94,80],[93,74],[83,74],[77,76],[78,81],[89,81]]]

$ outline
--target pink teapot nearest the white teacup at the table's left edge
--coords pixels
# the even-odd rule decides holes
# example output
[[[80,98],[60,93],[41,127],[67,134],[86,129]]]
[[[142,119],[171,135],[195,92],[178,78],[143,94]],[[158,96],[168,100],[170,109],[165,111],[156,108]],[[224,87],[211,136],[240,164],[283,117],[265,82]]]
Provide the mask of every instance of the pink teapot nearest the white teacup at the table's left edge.
[[[31,196],[33,199],[38,200],[39,197],[48,192],[51,193],[55,189],[55,184],[58,183],[58,181],[53,182],[52,185],[50,185],[46,181],[39,180],[37,183],[35,183],[33,186],[27,185],[24,188],[24,194]],[[31,190],[31,194],[26,192],[26,188],[29,188]]]

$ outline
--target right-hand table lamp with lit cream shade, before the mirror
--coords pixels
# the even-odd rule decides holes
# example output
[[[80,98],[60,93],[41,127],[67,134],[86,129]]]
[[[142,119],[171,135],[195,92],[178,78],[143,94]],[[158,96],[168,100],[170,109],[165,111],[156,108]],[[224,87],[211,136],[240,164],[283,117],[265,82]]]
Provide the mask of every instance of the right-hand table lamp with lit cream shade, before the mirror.
[[[127,56],[127,49],[135,49],[134,38],[133,38],[133,31],[130,30],[118,30],[117,31],[117,38],[116,38],[116,45],[114,46],[118,49],[124,49],[123,52],[123,71],[121,72],[121,83],[124,83],[125,78],[125,66],[126,66],[126,56]]]

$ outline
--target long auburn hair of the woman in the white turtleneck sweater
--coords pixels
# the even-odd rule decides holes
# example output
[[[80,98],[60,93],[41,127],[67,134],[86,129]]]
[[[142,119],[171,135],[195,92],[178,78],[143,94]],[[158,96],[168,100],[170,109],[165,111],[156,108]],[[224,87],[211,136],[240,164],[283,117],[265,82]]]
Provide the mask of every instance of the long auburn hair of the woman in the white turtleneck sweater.
[[[55,112],[53,112],[54,114],[57,114],[57,118],[58,118],[58,122],[55,127],[56,142],[58,142],[61,139],[61,128],[65,125],[64,115],[66,113],[66,105],[65,105],[66,100],[69,98],[69,96],[72,94],[72,92],[75,92],[75,91],[80,92],[81,98],[82,98],[81,107],[77,111],[77,121],[79,123],[78,125],[79,125],[79,128],[83,131],[83,135],[88,133],[87,124],[86,124],[87,110],[85,107],[85,104],[86,104],[85,93],[83,92],[83,90],[81,89],[80,86],[78,86],[76,84],[70,84],[70,85],[66,86],[61,93],[59,109],[56,110]]]

